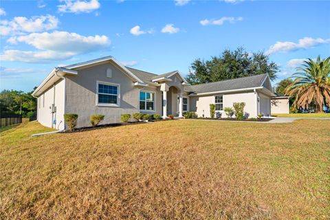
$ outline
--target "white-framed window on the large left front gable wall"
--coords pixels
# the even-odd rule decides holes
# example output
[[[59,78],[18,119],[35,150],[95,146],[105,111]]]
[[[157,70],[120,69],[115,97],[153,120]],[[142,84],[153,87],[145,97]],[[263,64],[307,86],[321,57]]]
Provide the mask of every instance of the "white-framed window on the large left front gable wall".
[[[119,85],[98,83],[98,103],[101,105],[118,106]]]

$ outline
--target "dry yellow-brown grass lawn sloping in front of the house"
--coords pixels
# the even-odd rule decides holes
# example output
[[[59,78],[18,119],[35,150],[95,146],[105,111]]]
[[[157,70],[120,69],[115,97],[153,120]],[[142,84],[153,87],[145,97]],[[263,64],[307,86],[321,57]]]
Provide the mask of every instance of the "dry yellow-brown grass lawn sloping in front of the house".
[[[330,120],[0,134],[0,219],[329,219]]]

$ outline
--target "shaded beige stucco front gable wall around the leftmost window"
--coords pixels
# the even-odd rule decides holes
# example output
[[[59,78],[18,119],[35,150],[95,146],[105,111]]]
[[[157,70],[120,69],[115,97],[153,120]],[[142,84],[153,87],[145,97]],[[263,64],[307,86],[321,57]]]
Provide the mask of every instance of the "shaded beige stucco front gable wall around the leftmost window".
[[[112,78],[107,78],[107,68],[112,69]],[[96,106],[97,81],[120,85],[120,107]],[[122,113],[139,111],[140,90],[133,80],[111,63],[78,70],[78,76],[67,76],[67,113],[77,113],[77,127],[91,126],[89,117],[105,115],[101,124],[120,122]]]

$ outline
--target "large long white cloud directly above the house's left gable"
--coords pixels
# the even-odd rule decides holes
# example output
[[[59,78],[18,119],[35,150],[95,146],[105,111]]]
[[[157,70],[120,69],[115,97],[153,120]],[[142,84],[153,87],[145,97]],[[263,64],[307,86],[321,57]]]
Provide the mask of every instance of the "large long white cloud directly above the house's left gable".
[[[8,42],[23,42],[39,50],[52,50],[54,52],[72,52],[83,54],[100,50],[110,45],[107,36],[82,36],[76,33],[58,32],[32,33],[25,36],[11,37]]]

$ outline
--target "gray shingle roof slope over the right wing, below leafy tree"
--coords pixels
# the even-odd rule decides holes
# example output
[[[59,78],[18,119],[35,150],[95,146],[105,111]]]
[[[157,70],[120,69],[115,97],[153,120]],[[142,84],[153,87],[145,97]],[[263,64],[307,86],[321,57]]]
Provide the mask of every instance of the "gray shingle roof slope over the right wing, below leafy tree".
[[[234,78],[232,80],[223,80],[214,83],[204,83],[199,85],[191,85],[188,88],[195,91],[196,94],[212,92],[212,91],[227,91],[233,89],[246,89],[252,87],[263,86],[263,81],[267,78],[267,74],[256,76],[248,76],[242,78]]]

